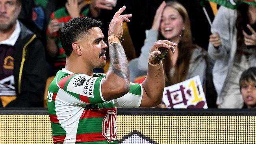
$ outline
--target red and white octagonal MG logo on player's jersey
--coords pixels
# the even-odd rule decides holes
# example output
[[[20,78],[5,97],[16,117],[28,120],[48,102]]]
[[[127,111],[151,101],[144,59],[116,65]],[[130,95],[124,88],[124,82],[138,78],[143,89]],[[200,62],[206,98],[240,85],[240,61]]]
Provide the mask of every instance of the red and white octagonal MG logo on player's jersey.
[[[117,115],[114,110],[109,110],[102,122],[102,135],[112,142],[117,139]]]

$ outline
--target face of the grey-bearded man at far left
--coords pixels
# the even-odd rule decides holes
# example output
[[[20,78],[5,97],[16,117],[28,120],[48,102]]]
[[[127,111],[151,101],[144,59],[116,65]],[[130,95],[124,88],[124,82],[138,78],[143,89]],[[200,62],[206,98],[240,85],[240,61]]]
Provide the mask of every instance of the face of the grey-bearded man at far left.
[[[17,0],[0,0],[0,30],[6,31],[15,25],[20,9]]]

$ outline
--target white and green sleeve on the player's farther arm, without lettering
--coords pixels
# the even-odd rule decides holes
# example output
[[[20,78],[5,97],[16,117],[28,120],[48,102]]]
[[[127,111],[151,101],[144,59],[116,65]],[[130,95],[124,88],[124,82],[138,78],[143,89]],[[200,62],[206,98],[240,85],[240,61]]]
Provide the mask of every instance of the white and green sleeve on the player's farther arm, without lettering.
[[[143,95],[142,85],[139,83],[130,83],[130,91],[114,100],[116,107],[139,107]]]

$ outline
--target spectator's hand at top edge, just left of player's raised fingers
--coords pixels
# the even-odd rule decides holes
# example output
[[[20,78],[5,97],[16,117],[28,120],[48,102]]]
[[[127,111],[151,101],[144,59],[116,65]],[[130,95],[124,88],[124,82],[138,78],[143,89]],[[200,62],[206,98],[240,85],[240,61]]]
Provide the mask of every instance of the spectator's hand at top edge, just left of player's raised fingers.
[[[92,0],[90,5],[91,15],[98,17],[100,15],[100,9],[112,10],[112,6],[112,2],[108,0]]]

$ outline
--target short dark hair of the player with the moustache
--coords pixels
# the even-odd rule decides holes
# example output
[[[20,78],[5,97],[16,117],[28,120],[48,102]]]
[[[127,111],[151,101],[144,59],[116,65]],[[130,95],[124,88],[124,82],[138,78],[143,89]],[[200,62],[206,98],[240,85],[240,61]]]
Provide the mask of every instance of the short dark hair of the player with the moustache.
[[[72,53],[72,43],[84,36],[93,27],[101,27],[102,23],[93,18],[78,17],[69,20],[59,33],[61,45],[67,57]]]

